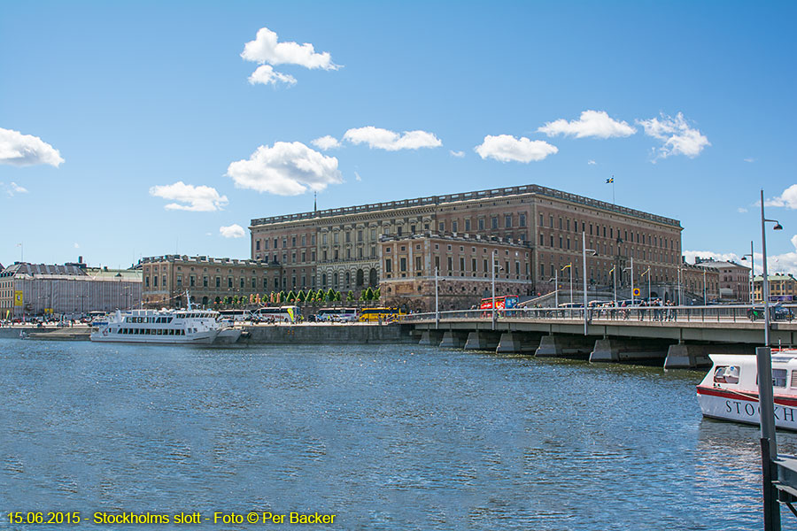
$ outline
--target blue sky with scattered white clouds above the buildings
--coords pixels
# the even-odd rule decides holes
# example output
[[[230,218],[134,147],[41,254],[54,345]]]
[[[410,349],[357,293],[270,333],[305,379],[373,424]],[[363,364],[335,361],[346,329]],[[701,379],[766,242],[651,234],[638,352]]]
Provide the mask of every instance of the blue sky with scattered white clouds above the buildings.
[[[793,2],[15,2],[0,263],[248,258],[251,219],[538,184],[797,273]],[[606,180],[614,176],[614,184]],[[21,245],[20,245],[21,244]]]

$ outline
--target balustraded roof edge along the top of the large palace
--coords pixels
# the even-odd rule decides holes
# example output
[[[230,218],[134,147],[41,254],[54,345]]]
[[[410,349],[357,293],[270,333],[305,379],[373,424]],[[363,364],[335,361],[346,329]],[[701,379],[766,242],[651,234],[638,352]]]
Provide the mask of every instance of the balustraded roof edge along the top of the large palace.
[[[536,184],[500,189],[479,190],[476,192],[464,192],[461,194],[448,194],[445,196],[418,197],[416,199],[403,199],[400,201],[388,201],[386,203],[360,204],[358,206],[346,206],[343,208],[333,208],[316,212],[301,212],[298,214],[271,216],[269,218],[257,218],[251,220],[251,227],[282,223],[285,221],[298,221],[301,219],[329,218],[333,216],[343,216],[347,214],[357,214],[363,212],[389,211],[398,208],[409,208],[426,204],[439,205],[459,203],[461,201],[485,199],[487,197],[520,196],[523,194],[537,194],[539,196],[554,197],[556,199],[563,199],[571,203],[584,204],[585,206],[597,208],[606,212],[615,212],[625,216],[646,219],[648,221],[654,221],[656,223],[662,223],[672,227],[681,227],[681,223],[677,219],[665,218],[663,216],[657,216],[648,212],[633,210],[631,208],[626,208],[617,204],[606,203],[605,201],[599,201],[590,197],[576,196],[576,194],[570,194],[568,192],[562,192],[561,190],[556,189],[549,189]]]

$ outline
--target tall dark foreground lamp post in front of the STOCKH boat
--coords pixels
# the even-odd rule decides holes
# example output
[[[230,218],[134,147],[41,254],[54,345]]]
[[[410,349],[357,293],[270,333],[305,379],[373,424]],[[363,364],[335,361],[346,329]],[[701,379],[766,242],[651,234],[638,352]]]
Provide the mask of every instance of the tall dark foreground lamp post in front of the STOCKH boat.
[[[774,223],[775,230],[783,226],[776,219],[764,216],[763,189],[761,190],[761,252],[763,260],[762,298],[764,309],[764,346],[755,349],[758,373],[758,404],[761,411],[761,460],[763,480],[764,529],[780,529],[780,505],[778,491],[772,484],[778,477],[777,466],[772,462],[778,456],[778,442],[775,438],[775,402],[772,389],[772,357],[770,350],[770,282],[767,273],[767,234],[766,223]]]

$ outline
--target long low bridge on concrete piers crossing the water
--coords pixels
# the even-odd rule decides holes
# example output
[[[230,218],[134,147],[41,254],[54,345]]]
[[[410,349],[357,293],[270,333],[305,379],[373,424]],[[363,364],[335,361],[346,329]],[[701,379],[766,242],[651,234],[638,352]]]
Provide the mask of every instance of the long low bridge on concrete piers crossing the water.
[[[770,343],[797,344],[791,308],[770,309]],[[710,366],[708,354],[754,354],[764,342],[760,309],[749,305],[631,308],[517,308],[413,313],[401,323],[420,344],[592,362]],[[586,322],[584,322],[586,320]]]

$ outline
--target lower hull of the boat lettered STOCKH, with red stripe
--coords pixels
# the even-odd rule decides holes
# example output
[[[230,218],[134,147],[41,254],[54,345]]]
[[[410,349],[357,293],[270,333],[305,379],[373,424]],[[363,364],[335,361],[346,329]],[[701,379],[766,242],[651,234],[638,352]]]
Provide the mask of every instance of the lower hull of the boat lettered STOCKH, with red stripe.
[[[759,425],[758,395],[728,389],[697,388],[704,417]],[[797,399],[775,396],[775,426],[797,431]]]

